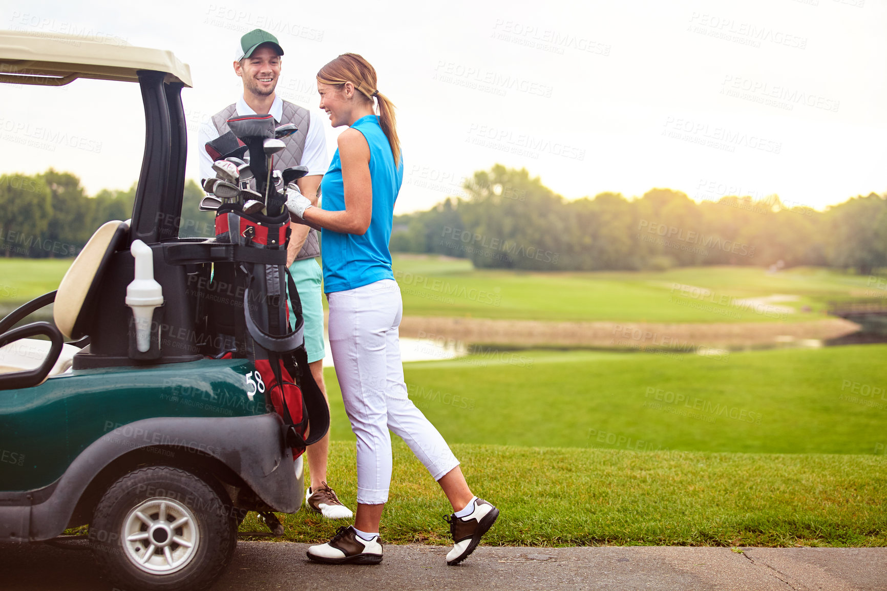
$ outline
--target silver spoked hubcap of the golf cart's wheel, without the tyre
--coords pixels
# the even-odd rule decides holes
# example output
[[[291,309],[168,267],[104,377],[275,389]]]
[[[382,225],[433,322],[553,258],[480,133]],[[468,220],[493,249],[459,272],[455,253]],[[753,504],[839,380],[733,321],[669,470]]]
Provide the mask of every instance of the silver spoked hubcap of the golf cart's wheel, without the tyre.
[[[154,498],[130,509],[121,539],[126,556],[139,570],[170,574],[192,561],[200,532],[189,508],[177,500]]]

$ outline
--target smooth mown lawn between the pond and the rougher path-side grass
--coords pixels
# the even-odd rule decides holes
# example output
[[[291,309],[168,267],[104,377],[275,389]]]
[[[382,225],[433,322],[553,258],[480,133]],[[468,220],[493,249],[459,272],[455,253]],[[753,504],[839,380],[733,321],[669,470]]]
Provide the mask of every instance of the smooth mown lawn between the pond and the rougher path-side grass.
[[[725,361],[514,351],[407,363],[404,377],[410,397],[450,443],[858,454],[887,445],[884,359],[887,345],[748,351]],[[854,395],[854,382],[881,388],[858,396],[880,408],[842,399]],[[326,387],[331,437],[353,440],[329,369]],[[735,418],[718,414],[724,407]]]

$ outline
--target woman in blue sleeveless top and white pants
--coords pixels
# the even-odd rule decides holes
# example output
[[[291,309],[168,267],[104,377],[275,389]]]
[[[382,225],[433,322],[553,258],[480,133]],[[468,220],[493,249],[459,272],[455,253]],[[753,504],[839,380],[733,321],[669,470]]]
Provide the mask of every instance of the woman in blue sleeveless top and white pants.
[[[308,557],[324,563],[381,562],[379,522],[391,481],[391,429],[450,500],[454,513],[447,521],[455,546],[447,563],[457,564],[474,551],[498,509],[471,493],[450,447],[406,395],[397,340],[403,303],[388,247],[404,172],[394,105],[377,90],[373,67],[355,53],[320,69],[318,92],[333,127],[349,129],[339,136],[320,185],[322,209],[312,207],[294,185],[287,190],[287,206],[293,217],[323,229],[330,348],[357,436],[357,517],[333,540],[310,547]]]

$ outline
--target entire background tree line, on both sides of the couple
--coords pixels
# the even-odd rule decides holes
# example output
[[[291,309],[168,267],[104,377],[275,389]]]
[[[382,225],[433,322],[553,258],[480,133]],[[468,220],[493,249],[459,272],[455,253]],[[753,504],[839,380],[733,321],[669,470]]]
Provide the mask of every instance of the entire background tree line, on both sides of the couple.
[[[465,197],[396,216],[395,252],[469,258],[477,267],[535,271],[663,270],[704,264],[827,265],[869,274],[887,267],[887,194],[871,193],[825,211],[775,196],[729,195],[696,202],[651,189],[568,201],[526,169],[475,172]],[[0,252],[75,256],[99,225],[128,219],[136,185],[88,196],[69,172],[0,176]],[[211,236],[203,195],[184,186],[181,236]],[[158,223],[170,223],[161,220]]]

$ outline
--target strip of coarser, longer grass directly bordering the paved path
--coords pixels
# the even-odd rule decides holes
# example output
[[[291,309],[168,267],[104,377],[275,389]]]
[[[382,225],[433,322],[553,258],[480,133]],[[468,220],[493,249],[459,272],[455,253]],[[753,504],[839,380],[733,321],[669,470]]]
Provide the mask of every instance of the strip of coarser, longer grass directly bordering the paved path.
[[[501,510],[486,544],[887,545],[880,456],[452,448],[475,493]],[[328,480],[351,508],[354,466],[354,445],[334,442]],[[382,540],[450,544],[441,516],[451,508],[399,440],[394,466]],[[318,542],[341,522],[302,510],[284,524],[287,540]],[[267,529],[250,514],[241,531]]]

